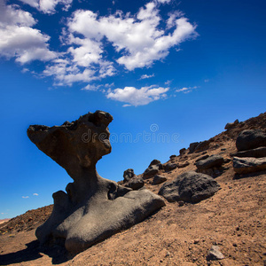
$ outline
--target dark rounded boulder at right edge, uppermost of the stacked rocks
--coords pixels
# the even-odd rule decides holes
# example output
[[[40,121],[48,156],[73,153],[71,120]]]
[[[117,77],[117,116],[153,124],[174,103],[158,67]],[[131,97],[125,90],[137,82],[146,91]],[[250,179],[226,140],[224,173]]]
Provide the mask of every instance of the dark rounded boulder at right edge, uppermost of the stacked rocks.
[[[266,146],[266,133],[262,129],[247,129],[239,133],[236,141],[239,152]]]

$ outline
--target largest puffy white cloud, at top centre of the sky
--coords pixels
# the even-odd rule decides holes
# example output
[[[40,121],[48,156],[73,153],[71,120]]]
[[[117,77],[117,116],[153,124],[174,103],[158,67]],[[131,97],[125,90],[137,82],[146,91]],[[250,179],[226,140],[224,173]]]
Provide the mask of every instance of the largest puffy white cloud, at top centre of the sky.
[[[173,31],[166,34],[166,30],[160,28],[159,12],[155,2],[141,7],[137,15],[116,12],[106,17],[98,17],[94,12],[78,10],[68,20],[68,31],[72,35],[83,35],[85,40],[93,40],[94,43],[85,45],[85,41],[80,40],[76,43],[80,47],[75,53],[90,53],[90,59],[93,55],[92,58],[98,60],[103,53],[100,48],[103,45],[102,40],[106,37],[119,55],[116,61],[120,65],[128,70],[151,66],[153,61],[167,57],[171,47],[197,35],[195,25],[184,17],[177,19],[177,16],[181,15],[180,12],[170,14],[167,27],[172,27]],[[71,42],[74,42],[74,38]],[[96,49],[97,47],[99,49]],[[71,52],[74,53],[74,50]],[[81,57],[75,56],[74,59],[78,64],[84,64]]]

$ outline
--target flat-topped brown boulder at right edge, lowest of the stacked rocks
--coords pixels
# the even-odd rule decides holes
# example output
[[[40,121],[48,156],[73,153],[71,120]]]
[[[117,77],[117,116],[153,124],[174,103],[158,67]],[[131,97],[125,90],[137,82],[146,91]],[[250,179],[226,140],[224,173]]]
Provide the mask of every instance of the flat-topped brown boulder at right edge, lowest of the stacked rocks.
[[[248,174],[266,169],[266,157],[263,158],[233,158],[233,168],[238,174]]]

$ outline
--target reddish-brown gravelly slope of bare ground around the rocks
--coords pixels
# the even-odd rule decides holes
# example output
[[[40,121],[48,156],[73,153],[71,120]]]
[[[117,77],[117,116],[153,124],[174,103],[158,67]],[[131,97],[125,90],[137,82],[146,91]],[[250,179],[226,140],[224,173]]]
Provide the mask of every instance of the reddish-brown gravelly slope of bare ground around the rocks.
[[[186,149],[171,156],[159,171],[171,181],[196,170],[201,156],[222,155],[223,167],[205,170],[221,185],[213,197],[197,204],[166,201],[143,223],[76,255],[59,246],[39,248],[35,229],[51,215],[52,206],[31,210],[0,225],[0,265],[266,265],[266,171],[239,175],[232,168],[231,154],[244,129],[265,131],[266,113],[223,131],[193,153]],[[169,163],[179,167],[166,171]],[[152,192],[161,185],[145,179]],[[223,260],[207,260],[213,245]]]

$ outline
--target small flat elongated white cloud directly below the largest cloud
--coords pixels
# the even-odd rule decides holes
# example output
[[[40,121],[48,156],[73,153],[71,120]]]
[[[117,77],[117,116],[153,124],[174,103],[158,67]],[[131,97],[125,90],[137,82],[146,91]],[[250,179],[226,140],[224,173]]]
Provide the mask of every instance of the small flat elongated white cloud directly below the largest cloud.
[[[135,87],[125,87],[124,89],[115,89],[109,91],[106,95],[116,101],[126,103],[125,106],[145,106],[160,98],[166,98],[168,88],[161,88],[156,86],[142,87],[136,89]]]

